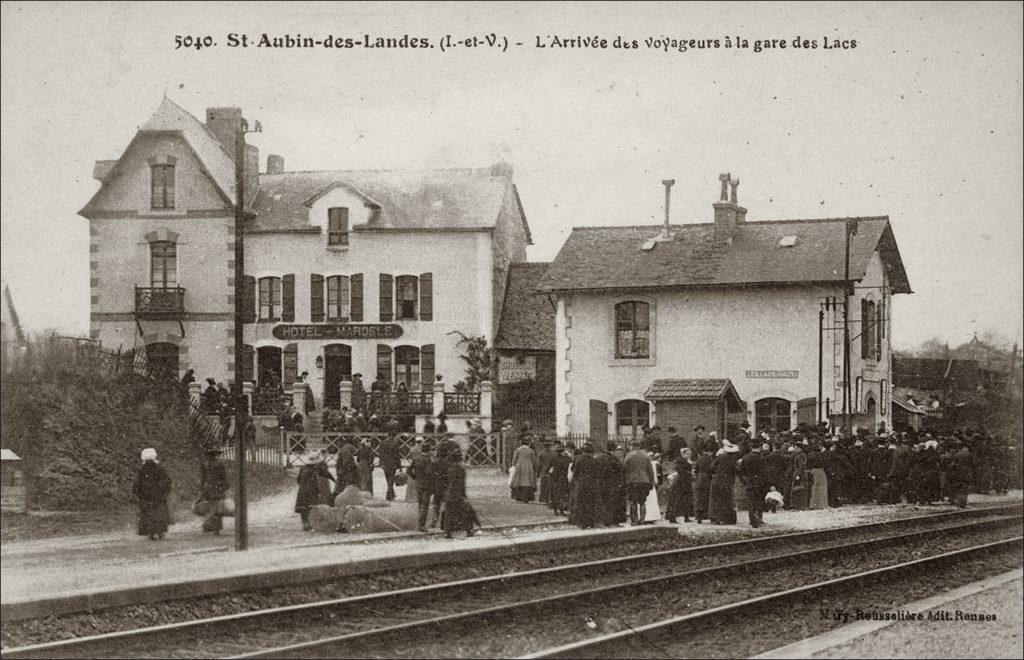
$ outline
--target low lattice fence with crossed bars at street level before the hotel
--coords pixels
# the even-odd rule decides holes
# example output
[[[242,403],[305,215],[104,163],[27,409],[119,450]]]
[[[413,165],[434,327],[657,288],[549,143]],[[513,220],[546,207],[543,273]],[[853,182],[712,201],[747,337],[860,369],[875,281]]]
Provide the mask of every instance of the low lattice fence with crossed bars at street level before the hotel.
[[[416,441],[422,440],[424,446],[436,446],[442,440],[452,440],[459,444],[463,453],[463,463],[467,466],[500,466],[502,456],[506,453],[505,442],[501,433],[453,434],[453,433],[399,433],[398,451],[403,459],[408,459],[410,450]],[[388,438],[386,433],[305,433],[289,431],[284,434],[282,453],[284,465],[302,465],[307,452],[327,450],[329,463],[343,444],[358,447],[362,440],[370,443],[375,457],[380,457],[381,443]]]

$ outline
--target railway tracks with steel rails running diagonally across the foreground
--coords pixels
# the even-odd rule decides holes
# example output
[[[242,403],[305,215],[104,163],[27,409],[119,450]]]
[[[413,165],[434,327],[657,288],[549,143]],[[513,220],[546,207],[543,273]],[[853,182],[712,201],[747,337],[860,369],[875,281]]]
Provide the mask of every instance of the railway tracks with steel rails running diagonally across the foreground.
[[[1009,514],[1009,515],[1007,515]],[[987,520],[973,520],[979,516]],[[896,548],[906,553],[927,553],[945,548],[939,557],[961,553],[985,552],[1007,543],[1019,546],[1021,507],[988,508],[948,514],[930,515],[870,523],[854,527],[815,532],[765,536],[756,539],[698,545],[654,553],[644,553],[594,562],[478,577],[469,580],[430,584],[406,589],[371,593],[331,601],[293,605],[172,623],[136,630],[106,633],[62,642],[4,650],[3,657],[351,657],[407,655],[415,657],[423,650],[422,641],[433,640],[445,631],[464,631],[476,627],[486,630],[494,622],[531,621],[538,617],[573,616],[583,620],[587,612],[608,603],[631,603],[652,592],[701,589],[721,591],[721,585],[738,577],[778,574],[785,577],[786,567],[835,567],[838,558],[870,558]],[[907,527],[925,527],[901,531]],[[1007,541],[1006,536],[1012,534]],[[984,538],[986,543],[970,548],[962,545],[965,535]],[[1004,545],[999,545],[1002,543]],[[915,561],[949,561],[928,558]],[[699,568],[679,570],[699,563]],[[860,565],[851,561],[850,565]],[[845,575],[817,580],[813,584],[788,589],[793,598],[800,589],[824,589],[836,580],[865,580],[886,570],[907,570],[903,562],[896,567],[878,566],[868,571],[847,570]],[[820,572],[814,573],[820,577]],[[826,571],[827,573],[827,571]],[[857,577],[857,576],[860,577]],[[588,584],[591,583],[591,584]],[[596,585],[594,584],[596,583]],[[788,583],[783,581],[782,583]],[[840,582],[836,582],[837,584]],[[583,588],[581,588],[583,587]],[[733,587],[734,588],[734,587]],[[769,595],[754,599],[733,599],[736,607],[753,607]],[[761,599],[761,600],[758,600]],[[699,600],[699,599],[694,599]],[[744,605],[745,604],[745,605]],[[729,604],[698,603],[700,612],[689,617],[713,617]],[[689,607],[687,605],[687,607]],[[671,610],[667,610],[671,611]],[[683,625],[680,617],[668,619],[666,626]],[[499,626],[500,627],[500,626]],[[640,630],[640,628],[636,628]],[[655,634],[645,630],[643,634]],[[585,640],[574,643],[623,644],[633,628],[609,635],[588,630]],[[496,630],[496,635],[498,635]],[[614,635],[621,636],[614,636]],[[625,636],[623,636],[625,635]],[[456,637],[458,635],[455,635]],[[499,635],[500,636],[500,635]],[[564,637],[555,637],[564,639]],[[431,643],[433,644],[433,643]],[[429,644],[428,644],[429,646]],[[595,647],[599,649],[599,647]],[[520,653],[522,649],[488,649],[478,655],[502,655],[503,651]],[[590,653],[589,647],[554,650],[555,655]],[[598,650],[598,653],[602,651]],[[446,655],[472,655],[472,650],[450,651]],[[429,653],[427,655],[430,655]],[[445,655],[440,653],[438,655]],[[506,653],[507,655],[507,653]]]

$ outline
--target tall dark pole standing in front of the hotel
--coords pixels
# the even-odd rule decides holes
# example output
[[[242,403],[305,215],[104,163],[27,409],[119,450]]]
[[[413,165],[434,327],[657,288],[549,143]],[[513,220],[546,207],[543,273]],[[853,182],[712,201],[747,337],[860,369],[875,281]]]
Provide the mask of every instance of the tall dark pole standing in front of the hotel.
[[[259,133],[261,127],[256,122],[255,129],[249,130],[249,123],[240,120],[234,129],[234,457],[238,464],[238,478],[234,493],[234,549],[249,548],[249,501],[246,496],[246,441],[245,428],[249,406],[242,393],[242,352],[243,301],[245,299],[245,249],[242,240],[245,221],[252,214],[246,213],[246,133]]]

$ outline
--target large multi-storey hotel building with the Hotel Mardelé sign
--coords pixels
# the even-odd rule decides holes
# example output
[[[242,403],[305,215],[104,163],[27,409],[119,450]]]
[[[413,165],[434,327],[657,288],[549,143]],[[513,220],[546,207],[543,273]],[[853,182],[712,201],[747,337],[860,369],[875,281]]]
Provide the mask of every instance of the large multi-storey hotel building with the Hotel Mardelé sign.
[[[361,373],[410,391],[462,380],[461,336],[494,341],[529,226],[512,168],[287,172],[245,145],[245,353],[233,355],[237,107],[169,99],[96,163],[90,335],[197,380],[305,382],[317,405]]]

